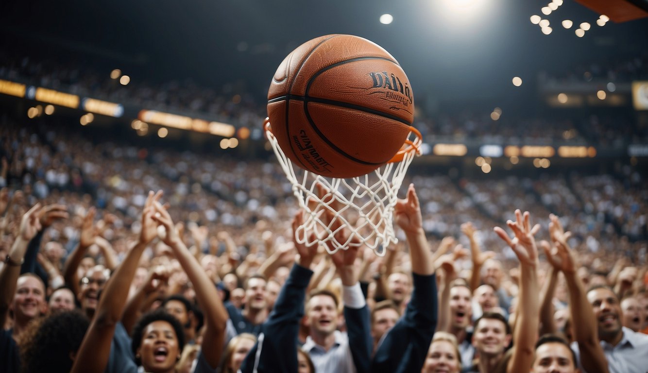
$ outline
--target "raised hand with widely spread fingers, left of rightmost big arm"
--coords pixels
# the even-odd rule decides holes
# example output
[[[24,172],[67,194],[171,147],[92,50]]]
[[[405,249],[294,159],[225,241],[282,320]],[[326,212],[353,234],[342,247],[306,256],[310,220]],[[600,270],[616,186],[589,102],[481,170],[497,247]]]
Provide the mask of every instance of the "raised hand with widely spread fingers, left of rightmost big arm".
[[[529,266],[537,266],[538,264],[538,248],[535,244],[533,237],[539,230],[540,224],[531,227],[529,223],[529,212],[525,211],[524,215],[518,209],[515,210],[516,221],[507,221],[506,224],[513,231],[513,238],[500,227],[495,227],[494,231],[497,233],[504,242],[513,249],[513,252],[520,260],[520,263]]]

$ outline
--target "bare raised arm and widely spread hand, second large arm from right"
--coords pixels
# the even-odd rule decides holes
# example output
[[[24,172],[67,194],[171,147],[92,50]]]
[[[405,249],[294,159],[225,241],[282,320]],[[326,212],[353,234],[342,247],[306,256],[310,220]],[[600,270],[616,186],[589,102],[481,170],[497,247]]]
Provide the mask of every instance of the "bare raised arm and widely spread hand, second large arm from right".
[[[538,339],[538,249],[533,236],[540,229],[540,225],[533,228],[529,223],[529,212],[515,210],[516,221],[507,221],[509,229],[513,231],[513,238],[500,227],[494,231],[504,242],[513,249],[520,260],[520,293],[518,301],[518,316],[516,328],[513,333],[513,357],[509,361],[506,371],[510,373],[527,372],[535,353],[535,342]]]

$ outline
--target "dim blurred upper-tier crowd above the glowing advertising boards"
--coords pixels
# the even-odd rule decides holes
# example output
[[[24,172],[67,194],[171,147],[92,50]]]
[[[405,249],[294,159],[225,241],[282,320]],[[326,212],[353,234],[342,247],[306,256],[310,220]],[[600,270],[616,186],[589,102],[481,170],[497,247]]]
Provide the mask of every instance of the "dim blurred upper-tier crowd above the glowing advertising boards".
[[[8,58],[8,57],[5,57]],[[645,76],[646,56],[619,61],[612,69],[593,65],[598,78],[610,72],[610,81],[628,84]],[[580,68],[579,68],[580,69]],[[68,62],[34,58],[0,60],[0,78],[17,80],[41,87],[59,89],[80,96],[88,96],[126,103],[135,107],[171,111],[194,117],[226,122],[240,127],[257,128],[263,122],[266,109],[241,84],[225,84],[220,89],[205,87],[191,80],[170,82],[143,82],[133,78],[128,85],[119,83],[119,76],[98,73],[84,66]],[[600,144],[619,146],[628,142],[645,141],[648,128],[638,126],[632,117],[617,111],[602,109],[583,117],[549,113],[542,115],[513,115],[500,111],[496,118],[491,111],[463,109],[426,115],[419,109],[414,126],[428,142],[479,140],[489,144]]]

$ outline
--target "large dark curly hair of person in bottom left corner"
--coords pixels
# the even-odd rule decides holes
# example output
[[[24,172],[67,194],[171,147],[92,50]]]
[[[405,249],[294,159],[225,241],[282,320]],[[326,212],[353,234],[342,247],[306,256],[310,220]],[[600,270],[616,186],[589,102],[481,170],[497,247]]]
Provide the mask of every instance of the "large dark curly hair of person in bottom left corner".
[[[21,341],[23,372],[69,372],[90,321],[79,310],[60,311],[32,325]]]

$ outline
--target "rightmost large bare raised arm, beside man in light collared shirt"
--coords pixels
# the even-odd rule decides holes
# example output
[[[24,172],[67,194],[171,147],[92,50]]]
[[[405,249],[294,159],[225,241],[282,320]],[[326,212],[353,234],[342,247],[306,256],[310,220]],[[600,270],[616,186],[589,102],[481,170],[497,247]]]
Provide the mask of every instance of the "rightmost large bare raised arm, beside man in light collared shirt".
[[[569,291],[573,335],[581,352],[581,365],[590,373],[608,372],[607,359],[599,345],[596,317],[587,300],[583,282],[576,274],[576,263],[572,249],[567,243],[568,234],[562,229],[558,217],[551,214],[549,232],[553,247],[545,250],[547,260],[556,270],[562,271]],[[592,327],[594,326],[594,327]]]

